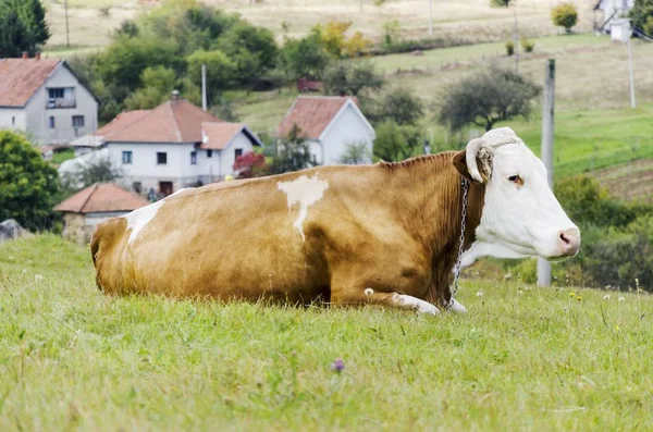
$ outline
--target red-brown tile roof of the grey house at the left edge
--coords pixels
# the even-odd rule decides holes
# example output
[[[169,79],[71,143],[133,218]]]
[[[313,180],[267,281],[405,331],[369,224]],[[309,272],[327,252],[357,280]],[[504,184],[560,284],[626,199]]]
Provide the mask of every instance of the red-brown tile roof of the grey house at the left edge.
[[[24,107],[59,63],[58,59],[0,59],[0,107]]]

